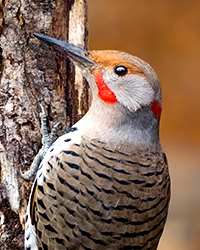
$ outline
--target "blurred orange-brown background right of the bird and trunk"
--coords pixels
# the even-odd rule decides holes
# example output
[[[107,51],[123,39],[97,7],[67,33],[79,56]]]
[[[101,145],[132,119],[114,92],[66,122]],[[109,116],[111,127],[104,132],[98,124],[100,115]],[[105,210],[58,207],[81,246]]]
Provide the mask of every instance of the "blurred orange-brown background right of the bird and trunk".
[[[159,250],[200,249],[200,1],[87,0],[90,49],[147,61],[163,90],[172,199]]]

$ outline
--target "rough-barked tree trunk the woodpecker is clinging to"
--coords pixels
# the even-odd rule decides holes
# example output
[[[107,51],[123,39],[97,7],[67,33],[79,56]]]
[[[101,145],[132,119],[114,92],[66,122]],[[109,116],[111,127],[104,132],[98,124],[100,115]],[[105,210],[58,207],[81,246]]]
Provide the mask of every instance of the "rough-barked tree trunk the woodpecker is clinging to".
[[[0,249],[23,249],[23,225],[32,181],[19,177],[41,148],[40,108],[59,135],[88,109],[88,88],[69,59],[33,33],[87,48],[85,0],[1,0]]]

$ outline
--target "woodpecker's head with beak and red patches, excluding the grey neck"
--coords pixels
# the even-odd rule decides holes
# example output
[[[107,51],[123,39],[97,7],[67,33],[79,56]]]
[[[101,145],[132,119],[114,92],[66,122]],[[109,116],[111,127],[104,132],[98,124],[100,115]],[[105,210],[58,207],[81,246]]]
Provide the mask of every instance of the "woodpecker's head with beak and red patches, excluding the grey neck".
[[[154,117],[160,119],[161,88],[155,71],[148,63],[121,51],[88,52],[71,43],[34,35],[92,73],[94,81],[89,81],[89,84],[94,98],[97,96],[108,105],[119,103],[131,112],[148,106]]]

